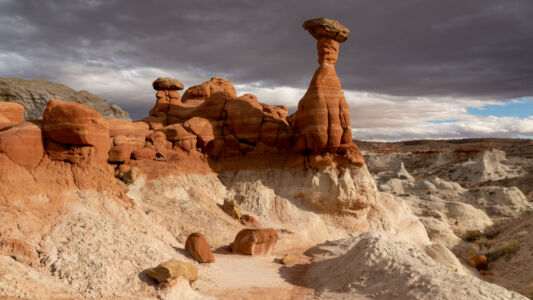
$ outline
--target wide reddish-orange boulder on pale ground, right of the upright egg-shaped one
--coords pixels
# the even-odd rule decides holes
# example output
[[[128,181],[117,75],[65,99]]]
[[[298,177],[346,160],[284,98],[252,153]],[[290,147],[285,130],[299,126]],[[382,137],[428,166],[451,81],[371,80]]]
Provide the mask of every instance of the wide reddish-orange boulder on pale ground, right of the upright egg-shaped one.
[[[272,228],[243,229],[231,244],[231,251],[248,255],[269,255],[278,241],[278,233]]]

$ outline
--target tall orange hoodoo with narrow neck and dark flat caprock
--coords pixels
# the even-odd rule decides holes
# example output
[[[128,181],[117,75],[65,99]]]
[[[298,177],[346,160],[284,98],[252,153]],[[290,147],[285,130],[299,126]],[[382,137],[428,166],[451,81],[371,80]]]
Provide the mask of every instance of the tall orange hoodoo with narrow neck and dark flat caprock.
[[[317,39],[318,63],[306,94],[298,103],[296,129],[306,148],[315,152],[336,152],[352,144],[349,107],[335,72],[339,43],[350,31],[326,18],[305,21],[303,28]]]

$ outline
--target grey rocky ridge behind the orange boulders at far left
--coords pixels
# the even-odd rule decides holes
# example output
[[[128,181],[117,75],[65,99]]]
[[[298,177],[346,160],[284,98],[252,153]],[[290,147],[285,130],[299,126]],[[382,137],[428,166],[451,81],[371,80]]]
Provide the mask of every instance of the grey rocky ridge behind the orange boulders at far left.
[[[50,99],[87,105],[107,119],[130,120],[129,114],[118,105],[109,104],[87,91],[77,92],[65,85],[42,79],[0,78],[0,101],[15,102],[24,106],[26,120],[42,118],[44,108]]]

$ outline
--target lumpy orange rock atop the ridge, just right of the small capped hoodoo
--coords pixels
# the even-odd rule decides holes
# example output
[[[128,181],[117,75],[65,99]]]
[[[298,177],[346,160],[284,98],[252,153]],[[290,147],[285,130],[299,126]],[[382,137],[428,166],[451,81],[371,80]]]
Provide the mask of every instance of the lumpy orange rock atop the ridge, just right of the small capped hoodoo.
[[[209,81],[188,88],[183,94],[182,101],[204,101],[218,92],[226,94],[229,98],[237,97],[235,87],[229,80],[213,77]]]

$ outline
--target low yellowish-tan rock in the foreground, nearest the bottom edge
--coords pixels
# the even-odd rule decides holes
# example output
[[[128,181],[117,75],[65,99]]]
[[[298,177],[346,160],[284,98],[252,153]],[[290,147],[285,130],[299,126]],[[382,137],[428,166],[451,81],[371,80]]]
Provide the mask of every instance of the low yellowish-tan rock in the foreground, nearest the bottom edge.
[[[183,276],[189,282],[198,280],[198,269],[194,265],[178,260],[169,260],[155,268],[146,270],[146,276],[164,283]]]

